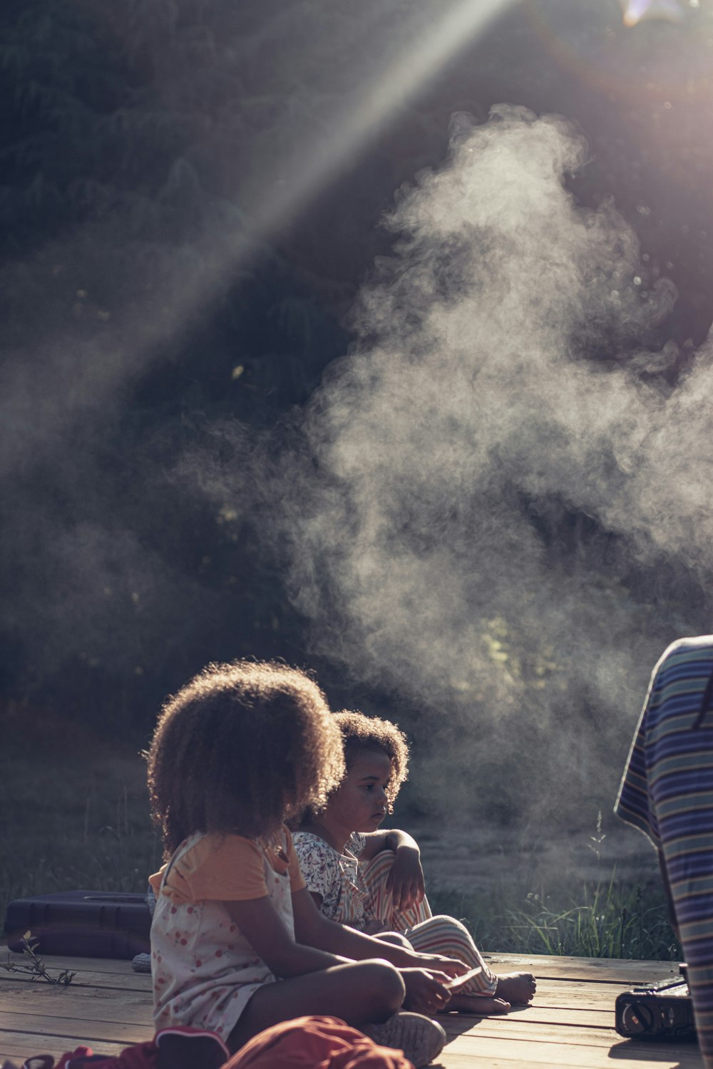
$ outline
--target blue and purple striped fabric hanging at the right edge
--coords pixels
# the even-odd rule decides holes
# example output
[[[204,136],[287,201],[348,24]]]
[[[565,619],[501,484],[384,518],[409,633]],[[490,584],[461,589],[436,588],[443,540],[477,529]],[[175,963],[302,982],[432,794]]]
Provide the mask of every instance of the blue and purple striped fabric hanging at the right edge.
[[[713,635],[682,638],[656,664],[615,812],[661,851],[688,964],[696,1031],[713,1069]]]

